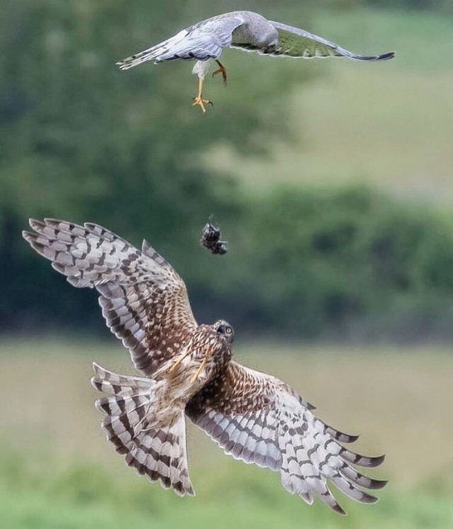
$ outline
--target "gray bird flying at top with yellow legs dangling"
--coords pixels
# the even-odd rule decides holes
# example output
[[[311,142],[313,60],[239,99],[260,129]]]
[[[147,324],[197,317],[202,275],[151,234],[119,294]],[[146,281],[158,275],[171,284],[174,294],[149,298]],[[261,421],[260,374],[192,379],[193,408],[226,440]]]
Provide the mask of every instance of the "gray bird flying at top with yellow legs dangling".
[[[214,59],[219,66],[212,76],[222,74],[226,85],[226,69],[218,59],[222,50],[227,47],[296,59],[349,57],[359,61],[384,61],[395,56],[394,52],[382,55],[357,55],[308,31],[292,28],[280,22],[268,21],[258,13],[232,11],[191,25],[174,37],[117,62],[117,65],[120,69],[127,70],[146,61],[158,63],[175,59],[197,59],[192,73],[197,74],[199,83],[193,105],[200,106],[202,111],[206,112],[205,105],[212,103],[203,99],[202,91],[205,75],[210,67],[210,59]]]

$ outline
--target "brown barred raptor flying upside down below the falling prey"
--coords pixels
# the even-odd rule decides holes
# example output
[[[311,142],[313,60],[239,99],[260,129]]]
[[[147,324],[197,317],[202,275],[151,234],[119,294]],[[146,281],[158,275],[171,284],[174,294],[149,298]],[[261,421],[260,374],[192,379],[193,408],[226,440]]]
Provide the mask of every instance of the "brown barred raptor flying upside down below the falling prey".
[[[93,364],[91,380],[104,395],[96,407],[108,441],[139,474],[181,496],[194,494],[188,417],[226,454],[280,472],[283,487],[308,504],[319,498],[345,513],[330,483],[357,501],[377,501],[363,489],[386,482],[355,466],[375,467],[384,456],[348,450],[343,443],[357,436],[325,424],[282,380],[234,361],[231,325],[198,325],[184,281],[146,240],[138,250],[93,223],[31,219],[30,226],[34,233],[23,237],[34,250],[71,285],[98,291],[108,327],[144,373],[122,376]]]

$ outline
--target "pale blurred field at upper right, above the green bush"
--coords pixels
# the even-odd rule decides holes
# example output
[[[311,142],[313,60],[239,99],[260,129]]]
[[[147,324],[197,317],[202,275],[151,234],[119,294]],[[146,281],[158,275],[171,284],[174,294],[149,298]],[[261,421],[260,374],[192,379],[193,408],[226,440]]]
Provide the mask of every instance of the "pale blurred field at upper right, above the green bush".
[[[317,78],[285,93],[290,139],[268,145],[269,157],[237,156],[218,146],[207,153],[207,165],[231,171],[255,192],[258,183],[265,189],[277,182],[365,182],[451,201],[453,19],[369,9],[316,13],[309,28],[315,33],[358,52],[396,50],[396,59],[294,62]],[[269,59],[260,60],[264,71]]]

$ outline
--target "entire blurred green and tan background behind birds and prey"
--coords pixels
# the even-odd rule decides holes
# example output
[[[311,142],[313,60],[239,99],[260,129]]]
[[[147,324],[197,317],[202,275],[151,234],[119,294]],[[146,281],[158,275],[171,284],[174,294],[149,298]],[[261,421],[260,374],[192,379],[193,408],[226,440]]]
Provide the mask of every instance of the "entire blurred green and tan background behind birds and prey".
[[[228,50],[206,115],[191,63],[115,66],[234,9],[396,59]],[[2,526],[453,527],[452,27],[451,0],[0,0]],[[224,257],[198,243],[212,213]],[[93,292],[21,239],[30,216],[146,237],[239,360],[386,451],[382,501],[309,508],[195,429],[195,499],[136,477],[88,385],[91,361],[130,361]]]

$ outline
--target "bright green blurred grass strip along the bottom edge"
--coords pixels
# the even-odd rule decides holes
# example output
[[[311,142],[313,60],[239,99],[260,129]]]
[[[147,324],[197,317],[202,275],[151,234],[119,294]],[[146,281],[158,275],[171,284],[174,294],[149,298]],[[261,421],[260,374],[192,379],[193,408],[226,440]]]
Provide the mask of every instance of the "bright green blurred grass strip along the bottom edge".
[[[220,450],[217,456],[225,458]],[[120,472],[115,474],[113,465],[107,467],[97,460],[70,463],[59,472],[49,463],[40,465],[40,472],[33,472],[34,465],[25,465],[20,454],[8,452],[8,459],[3,458],[0,464],[0,490],[5,500],[0,512],[5,526],[16,529],[147,529],[150,525],[166,529],[182,524],[195,529],[211,525],[213,520],[219,529],[231,525],[240,529],[297,529],[302,517],[315,529],[350,527],[320,503],[307,506],[297,496],[285,495],[277,476],[268,469],[229,466],[224,461],[211,461],[209,472],[196,475],[197,500],[184,502],[137,476],[131,479]],[[11,481],[6,482],[4,475]],[[381,492],[381,501],[372,509],[341,500],[354,516],[356,527],[425,529],[427,523],[435,521],[437,529],[449,529],[451,487],[445,475],[437,476],[418,486],[398,489],[398,494]]]

